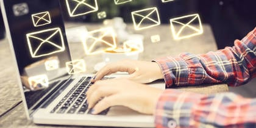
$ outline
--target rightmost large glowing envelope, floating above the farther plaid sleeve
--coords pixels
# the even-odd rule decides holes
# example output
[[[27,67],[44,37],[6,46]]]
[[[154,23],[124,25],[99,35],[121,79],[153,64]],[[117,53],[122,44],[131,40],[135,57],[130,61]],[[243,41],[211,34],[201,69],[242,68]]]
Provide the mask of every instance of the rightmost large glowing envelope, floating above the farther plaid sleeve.
[[[170,22],[174,40],[190,38],[195,35],[200,35],[204,32],[198,14],[173,18],[170,20]]]

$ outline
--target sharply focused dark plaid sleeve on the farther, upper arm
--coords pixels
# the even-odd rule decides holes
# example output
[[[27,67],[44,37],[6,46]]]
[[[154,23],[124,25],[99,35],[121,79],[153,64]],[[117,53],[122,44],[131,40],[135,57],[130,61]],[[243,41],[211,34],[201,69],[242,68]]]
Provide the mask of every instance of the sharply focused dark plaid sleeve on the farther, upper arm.
[[[172,85],[226,83],[236,87],[256,77],[256,27],[233,47],[216,52],[155,59],[165,79],[166,88]]]

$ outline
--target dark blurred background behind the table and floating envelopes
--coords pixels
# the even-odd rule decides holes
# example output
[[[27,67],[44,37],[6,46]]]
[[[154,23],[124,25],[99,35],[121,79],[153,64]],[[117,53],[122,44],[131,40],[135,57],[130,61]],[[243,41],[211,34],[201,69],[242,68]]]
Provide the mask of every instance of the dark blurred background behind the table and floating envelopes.
[[[64,1],[64,0],[60,0]],[[65,4],[61,4],[65,6]],[[145,7],[157,7],[162,24],[169,24],[169,19],[177,16],[199,13],[204,24],[210,24],[218,49],[233,46],[235,39],[242,39],[256,27],[255,0],[174,0],[162,3],[161,0],[133,0],[126,4],[115,5],[113,0],[98,0],[98,12],[106,12],[105,19],[116,16],[124,18],[125,23],[132,23],[130,12]],[[97,13],[70,18],[63,7],[64,20],[77,23],[102,23]],[[0,12],[1,13],[1,12]],[[4,24],[0,15],[0,39],[5,37]],[[254,87],[254,88],[252,88]],[[256,80],[241,88],[230,88],[247,97],[256,97]],[[243,90],[243,91],[240,91]],[[248,93],[249,92],[249,93]]]

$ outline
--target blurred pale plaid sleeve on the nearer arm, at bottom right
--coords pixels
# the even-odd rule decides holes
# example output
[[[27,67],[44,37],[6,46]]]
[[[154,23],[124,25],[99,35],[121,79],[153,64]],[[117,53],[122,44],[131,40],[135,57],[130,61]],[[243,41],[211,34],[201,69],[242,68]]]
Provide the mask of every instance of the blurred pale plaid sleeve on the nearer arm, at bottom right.
[[[256,99],[233,93],[204,95],[167,89],[158,100],[155,127],[256,127]]]

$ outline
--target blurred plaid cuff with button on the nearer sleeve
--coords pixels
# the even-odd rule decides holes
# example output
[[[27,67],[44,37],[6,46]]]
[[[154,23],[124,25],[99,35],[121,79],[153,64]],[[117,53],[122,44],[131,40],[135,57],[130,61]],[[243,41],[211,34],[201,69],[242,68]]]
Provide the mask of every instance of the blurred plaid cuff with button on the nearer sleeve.
[[[200,102],[202,94],[165,90],[157,102],[155,127],[188,127],[191,110]]]

